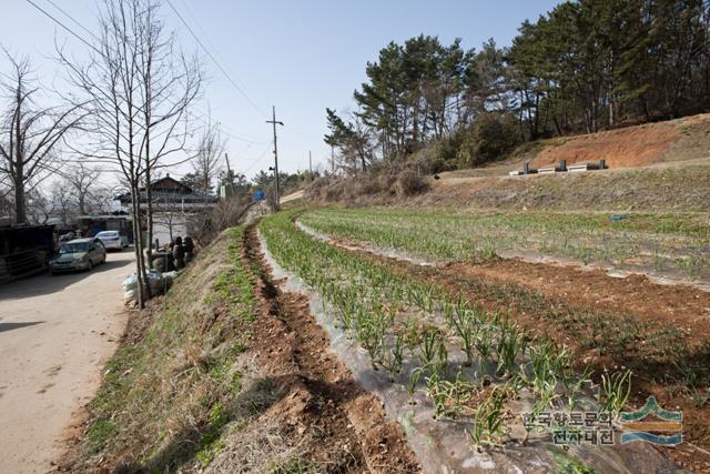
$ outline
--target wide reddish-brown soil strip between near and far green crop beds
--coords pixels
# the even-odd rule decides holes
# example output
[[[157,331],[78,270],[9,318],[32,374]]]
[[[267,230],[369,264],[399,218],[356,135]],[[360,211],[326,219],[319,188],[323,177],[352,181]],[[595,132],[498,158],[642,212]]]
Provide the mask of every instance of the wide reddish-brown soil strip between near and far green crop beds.
[[[710,331],[710,293],[689,285],[659,285],[639,275],[616,279],[601,271],[515,260],[437,262],[438,266],[426,268],[397,259],[400,250],[381,252],[367,242],[353,245],[308,230],[324,242],[369,254],[402,274],[439,282],[453,294],[513,313],[531,332],[550,334],[574,349],[578,365],[590,365],[597,374],[608,367],[631,369],[635,403],[642,405],[655,395],[686,414],[689,443],[671,454],[687,448],[694,453],[691,457],[709,462],[700,450],[710,446],[710,344],[704,336]]]

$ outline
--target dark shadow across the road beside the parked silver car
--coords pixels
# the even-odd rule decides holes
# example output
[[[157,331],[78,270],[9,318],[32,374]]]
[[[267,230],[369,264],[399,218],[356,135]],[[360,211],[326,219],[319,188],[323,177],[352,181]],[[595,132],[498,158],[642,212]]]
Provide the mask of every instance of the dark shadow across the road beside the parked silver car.
[[[67,286],[104,272],[115,269],[126,268],[130,273],[130,265],[133,263],[132,252],[110,253],[106,263],[94,266],[91,271],[80,271],[72,273],[61,273],[52,276],[49,272],[24,280],[18,280],[6,285],[0,285],[0,301],[21,300],[26,297],[41,296],[45,294],[63,291]]]

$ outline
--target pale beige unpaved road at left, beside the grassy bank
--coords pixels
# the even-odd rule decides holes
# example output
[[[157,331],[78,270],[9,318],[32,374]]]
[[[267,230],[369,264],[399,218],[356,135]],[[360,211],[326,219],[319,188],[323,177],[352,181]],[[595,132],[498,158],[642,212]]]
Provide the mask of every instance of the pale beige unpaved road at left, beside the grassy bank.
[[[0,286],[0,473],[44,473],[72,414],[99,387],[125,327],[133,252],[92,272]]]

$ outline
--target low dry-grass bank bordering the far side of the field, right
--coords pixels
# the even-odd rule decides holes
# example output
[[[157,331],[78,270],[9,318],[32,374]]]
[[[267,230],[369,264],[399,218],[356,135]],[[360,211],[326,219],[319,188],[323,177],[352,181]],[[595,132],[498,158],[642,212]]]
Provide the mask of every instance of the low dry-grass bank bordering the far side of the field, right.
[[[432,181],[413,205],[469,209],[693,211],[710,209],[710,159],[683,167],[651,167],[571,174]]]

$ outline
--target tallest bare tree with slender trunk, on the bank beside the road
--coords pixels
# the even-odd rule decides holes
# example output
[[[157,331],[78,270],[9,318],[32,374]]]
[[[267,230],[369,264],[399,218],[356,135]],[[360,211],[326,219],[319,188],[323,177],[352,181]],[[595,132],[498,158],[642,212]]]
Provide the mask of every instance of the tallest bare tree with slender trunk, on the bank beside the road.
[[[187,107],[201,89],[196,61],[176,51],[173,34],[163,34],[159,7],[154,0],[104,0],[90,61],[80,64],[59,49],[93,119],[91,151],[83,154],[118,168],[129,185],[141,307],[149,291],[141,201],[150,242],[152,172],[174,164],[168,158],[184,149]]]

